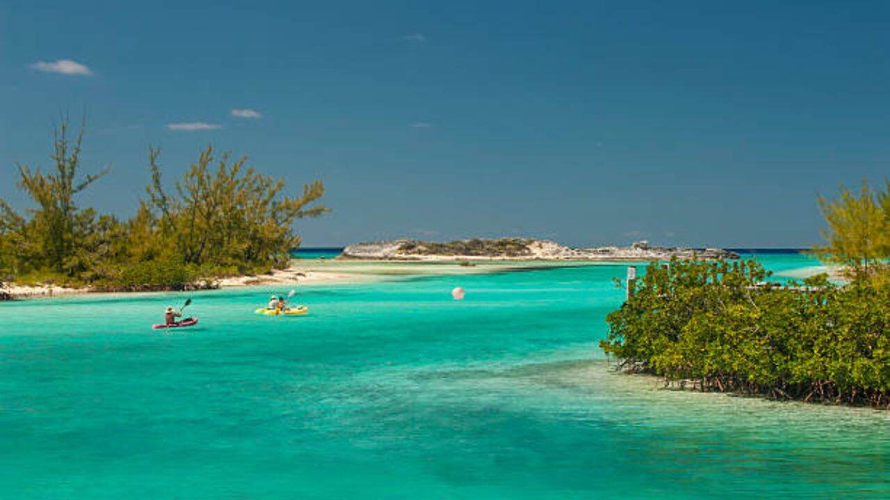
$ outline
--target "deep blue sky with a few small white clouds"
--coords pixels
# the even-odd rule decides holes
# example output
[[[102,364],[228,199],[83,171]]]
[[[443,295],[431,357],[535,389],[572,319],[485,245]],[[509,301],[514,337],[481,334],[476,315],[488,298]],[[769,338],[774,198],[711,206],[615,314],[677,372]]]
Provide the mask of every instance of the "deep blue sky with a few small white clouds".
[[[123,215],[150,144],[172,181],[213,143],[325,181],[307,246],[808,246],[817,193],[890,173],[885,5],[7,1],[0,197],[68,110]]]

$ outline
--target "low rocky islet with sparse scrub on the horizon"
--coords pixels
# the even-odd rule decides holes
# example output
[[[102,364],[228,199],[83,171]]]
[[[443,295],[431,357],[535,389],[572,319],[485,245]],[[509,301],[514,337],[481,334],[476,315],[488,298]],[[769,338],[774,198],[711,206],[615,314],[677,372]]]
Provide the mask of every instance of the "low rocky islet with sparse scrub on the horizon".
[[[631,246],[571,248],[533,238],[462,239],[447,243],[394,239],[346,246],[338,259],[380,261],[667,261],[679,259],[738,259],[739,254],[721,248],[650,246],[637,241]]]

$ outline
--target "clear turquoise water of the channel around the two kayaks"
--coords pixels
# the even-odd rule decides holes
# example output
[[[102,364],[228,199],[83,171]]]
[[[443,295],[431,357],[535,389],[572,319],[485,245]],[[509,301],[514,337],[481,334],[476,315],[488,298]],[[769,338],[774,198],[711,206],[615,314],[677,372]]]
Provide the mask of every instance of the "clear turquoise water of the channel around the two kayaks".
[[[767,255],[799,270],[813,262]],[[660,389],[624,266],[0,305],[4,498],[886,498],[890,416]],[[466,299],[450,299],[453,286]]]

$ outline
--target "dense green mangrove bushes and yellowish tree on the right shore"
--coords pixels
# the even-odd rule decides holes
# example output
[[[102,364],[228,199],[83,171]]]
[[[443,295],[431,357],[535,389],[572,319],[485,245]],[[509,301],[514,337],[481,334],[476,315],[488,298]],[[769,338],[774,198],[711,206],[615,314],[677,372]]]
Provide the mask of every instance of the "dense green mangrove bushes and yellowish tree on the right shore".
[[[828,243],[815,250],[844,264],[845,284],[783,286],[753,261],[652,263],[600,346],[705,391],[890,408],[888,191],[820,199]]]

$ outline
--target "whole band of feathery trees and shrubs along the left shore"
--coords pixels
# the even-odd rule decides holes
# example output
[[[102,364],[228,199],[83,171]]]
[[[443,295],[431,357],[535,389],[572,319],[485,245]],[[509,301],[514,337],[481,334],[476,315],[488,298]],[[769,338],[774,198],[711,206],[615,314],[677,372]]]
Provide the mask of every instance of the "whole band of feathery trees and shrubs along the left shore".
[[[72,137],[65,120],[49,172],[18,166],[17,186],[34,206],[20,214],[0,199],[0,280],[102,290],[212,286],[216,277],[287,267],[300,244],[294,222],[328,211],[320,181],[288,197],[283,180],[208,146],[172,190],[162,182],[159,149],[150,148],[150,183],[134,216],[98,214],[80,201],[108,169],[81,173],[83,140],[84,127]]]

